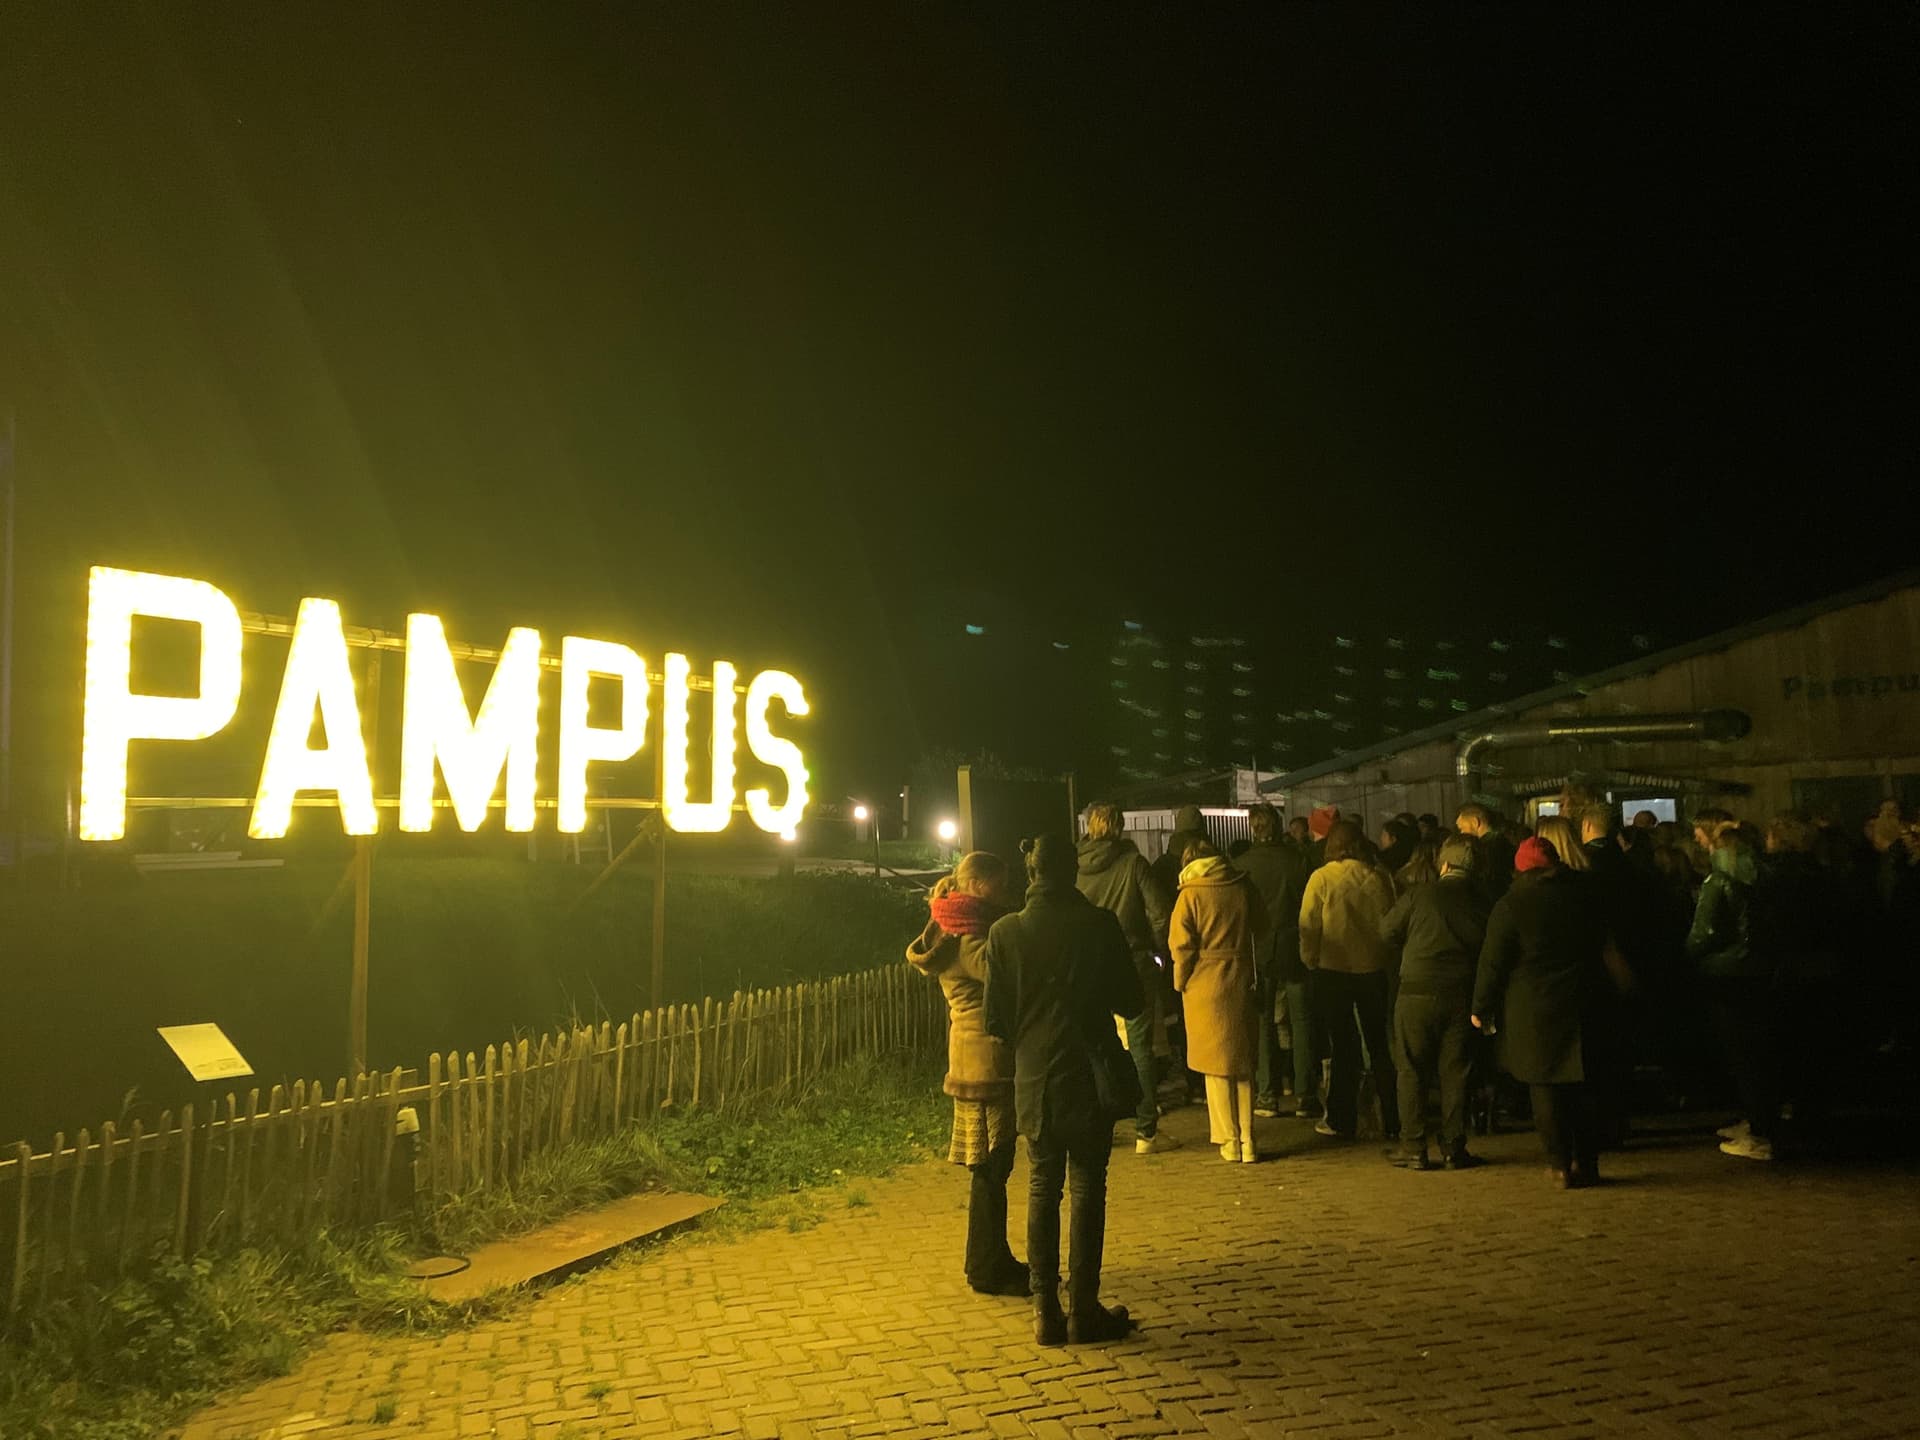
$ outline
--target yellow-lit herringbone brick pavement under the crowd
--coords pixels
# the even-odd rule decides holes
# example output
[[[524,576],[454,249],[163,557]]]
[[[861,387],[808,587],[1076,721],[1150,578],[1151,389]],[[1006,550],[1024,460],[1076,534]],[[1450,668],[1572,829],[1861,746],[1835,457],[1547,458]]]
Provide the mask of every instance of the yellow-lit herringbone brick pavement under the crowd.
[[[1023,1302],[972,1294],[966,1177],[927,1162],[812,1231],[687,1236],[451,1336],[336,1336],[180,1440],[1920,1434],[1910,1165],[1688,1137],[1563,1194],[1526,1135],[1450,1175],[1300,1121],[1227,1165],[1200,1112],[1167,1125],[1188,1148],[1114,1154],[1123,1344],[1043,1350]]]

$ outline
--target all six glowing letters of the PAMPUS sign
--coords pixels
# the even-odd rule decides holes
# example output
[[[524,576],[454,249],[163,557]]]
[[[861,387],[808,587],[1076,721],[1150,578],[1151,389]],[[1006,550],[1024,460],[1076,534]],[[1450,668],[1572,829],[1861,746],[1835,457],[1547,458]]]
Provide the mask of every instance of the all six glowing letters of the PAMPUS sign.
[[[184,620],[200,630],[200,687],[194,695],[140,695],[132,689],[134,616]],[[204,580],[94,566],[86,597],[86,708],[81,741],[81,839],[113,841],[127,833],[127,753],[136,739],[207,739],[240,708],[242,624],[234,603]],[[259,630],[261,626],[252,626]],[[275,630],[284,632],[282,626]],[[365,639],[361,643],[367,643]],[[540,672],[555,660],[540,647],[540,632],[507,632],[480,712],[468,714],[453,670],[447,632],[432,614],[407,616],[407,672],[401,695],[399,828],[434,826],[434,776],[445,781],[447,803],[461,829],[478,829],[505,776],[507,829],[534,828],[540,753]],[[630,760],[647,737],[645,660],[609,639],[566,636],[561,672],[561,737],[555,808],[559,828],[580,831],[588,818],[588,766]],[[620,682],[620,724],[588,724],[588,685],[593,676]],[[687,728],[693,666],[685,655],[666,657],[662,768],[659,797],[666,824],[680,831],[726,829],[737,797],[733,749],[739,691],[726,660],[712,666],[712,785],[695,801],[687,780]],[[774,835],[791,835],[806,808],[806,762],[801,747],[774,733],[778,701],[789,716],[806,714],[801,682],[781,670],[762,670],[745,695],[747,749],[785,776],[785,799],[774,804],[766,789],[749,789],[747,814]],[[315,710],[326,743],[309,743]],[[248,833],[286,835],[300,793],[332,795],[349,835],[372,835],[378,808],[361,730],[359,695],[348,664],[348,634],[340,607],[328,599],[300,601],[280,676],[267,753]]]

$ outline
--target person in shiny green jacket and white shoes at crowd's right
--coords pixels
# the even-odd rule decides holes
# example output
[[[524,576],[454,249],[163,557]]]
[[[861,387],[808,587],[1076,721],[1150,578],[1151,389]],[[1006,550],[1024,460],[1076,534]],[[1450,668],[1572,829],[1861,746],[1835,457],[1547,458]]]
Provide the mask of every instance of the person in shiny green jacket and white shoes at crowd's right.
[[[1720,1148],[1741,1160],[1774,1158],[1774,1117],[1780,1092],[1772,1056],[1772,977],[1753,948],[1749,912],[1759,874],[1753,847],[1740,828],[1720,826],[1713,835],[1713,862],[1699,900],[1686,952],[1699,970],[1707,1010],[1720,1054],[1740,1089],[1745,1119],[1720,1131]]]

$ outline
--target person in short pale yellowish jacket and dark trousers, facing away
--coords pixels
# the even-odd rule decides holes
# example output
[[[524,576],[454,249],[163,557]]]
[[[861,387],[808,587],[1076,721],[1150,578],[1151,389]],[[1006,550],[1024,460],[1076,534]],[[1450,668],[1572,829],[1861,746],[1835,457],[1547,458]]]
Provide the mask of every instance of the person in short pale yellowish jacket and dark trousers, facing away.
[[[1327,833],[1327,864],[1308,877],[1300,900],[1300,960],[1313,972],[1313,1004],[1319,1008],[1332,1075],[1327,1081],[1327,1117],[1313,1129],[1352,1140],[1359,1125],[1359,1046],[1380,1096],[1386,1139],[1400,1137],[1400,1100],[1394,1062],[1386,1046],[1386,966],[1382,937],[1394,887],[1386,872],[1365,858],[1365,837],[1352,820]]]

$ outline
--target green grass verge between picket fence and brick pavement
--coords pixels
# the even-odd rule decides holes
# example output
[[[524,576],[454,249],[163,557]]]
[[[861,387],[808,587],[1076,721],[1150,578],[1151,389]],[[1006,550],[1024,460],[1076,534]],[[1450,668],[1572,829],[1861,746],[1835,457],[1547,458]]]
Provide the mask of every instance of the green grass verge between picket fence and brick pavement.
[[[883,1175],[947,1139],[950,1102],[925,1064],[856,1064],[810,1094],[760,1114],[691,1112],[645,1131],[574,1146],[534,1165],[511,1192],[447,1206],[432,1229],[463,1250],[647,1187],[728,1198],[703,1225],[730,1235],[806,1229],[866,1204],[847,1177]],[[246,1250],[180,1261],[44,1308],[0,1340],[0,1436],[150,1440],[221,1388],[286,1375],[332,1331],[444,1331],[513,1304],[447,1306],[401,1275],[419,1242],[399,1231],[317,1235],[298,1252]]]

